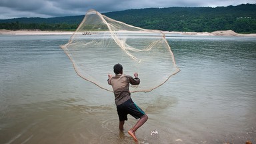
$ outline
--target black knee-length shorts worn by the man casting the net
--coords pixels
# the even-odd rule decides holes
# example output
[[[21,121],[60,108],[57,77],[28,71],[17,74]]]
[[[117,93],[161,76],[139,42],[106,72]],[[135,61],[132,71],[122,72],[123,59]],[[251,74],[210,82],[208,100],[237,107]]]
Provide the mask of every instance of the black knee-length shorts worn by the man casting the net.
[[[121,105],[117,105],[117,113],[119,117],[119,121],[127,121],[127,115],[130,114],[135,119],[141,118],[143,115],[145,115],[145,112],[141,110],[131,99],[128,99],[125,101],[125,103],[122,103]]]

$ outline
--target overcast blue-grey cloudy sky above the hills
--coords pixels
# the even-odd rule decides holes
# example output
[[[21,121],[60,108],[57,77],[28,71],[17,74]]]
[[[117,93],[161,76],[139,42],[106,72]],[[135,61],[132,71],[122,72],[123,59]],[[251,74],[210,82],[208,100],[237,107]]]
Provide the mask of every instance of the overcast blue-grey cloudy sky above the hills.
[[[61,17],[149,7],[218,7],[256,3],[256,0],[0,0],[0,19]]]

